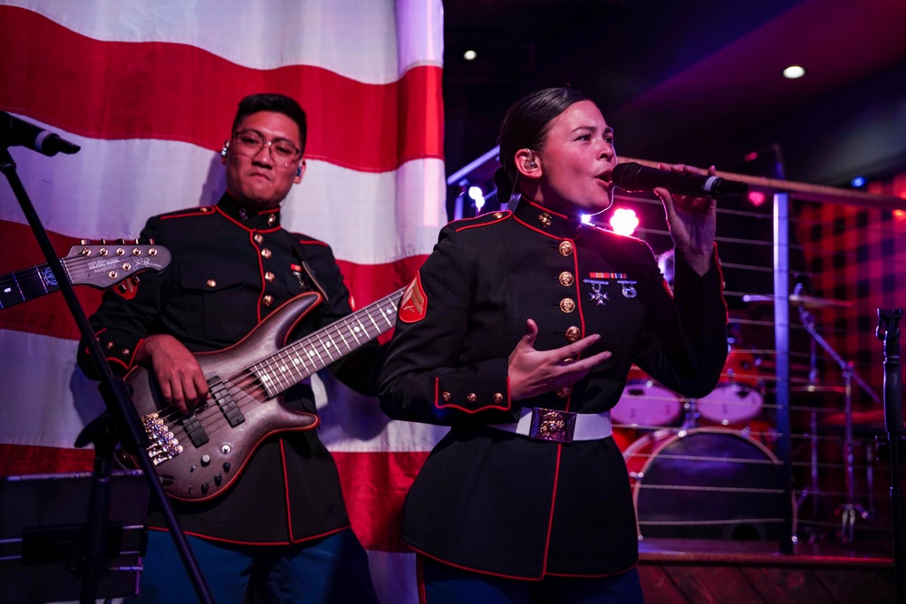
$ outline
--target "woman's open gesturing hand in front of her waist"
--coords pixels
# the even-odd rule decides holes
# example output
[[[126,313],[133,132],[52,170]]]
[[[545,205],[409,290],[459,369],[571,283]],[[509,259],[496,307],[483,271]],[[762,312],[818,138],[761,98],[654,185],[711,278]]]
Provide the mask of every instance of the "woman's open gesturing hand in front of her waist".
[[[535,350],[538,326],[529,319],[525,325],[525,336],[516,344],[509,356],[510,398],[536,397],[572,386],[583,379],[595,365],[610,359],[607,350],[587,359],[577,357],[592,346],[601,336],[593,334],[556,350]]]

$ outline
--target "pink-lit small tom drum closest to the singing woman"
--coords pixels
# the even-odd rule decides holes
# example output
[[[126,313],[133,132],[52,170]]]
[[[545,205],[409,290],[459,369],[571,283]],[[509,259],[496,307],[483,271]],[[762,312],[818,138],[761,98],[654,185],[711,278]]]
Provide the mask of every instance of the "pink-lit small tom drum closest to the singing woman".
[[[616,424],[657,429],[672,426],[681,411],[682,401],[676,392],[660,386],[633,365],[622,397],[611,409],[611,419]]]

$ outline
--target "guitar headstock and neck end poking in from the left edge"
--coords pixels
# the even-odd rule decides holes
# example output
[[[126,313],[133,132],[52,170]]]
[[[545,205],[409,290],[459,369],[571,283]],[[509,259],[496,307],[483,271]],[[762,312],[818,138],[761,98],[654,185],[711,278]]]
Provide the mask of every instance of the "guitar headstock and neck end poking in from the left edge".
[[[142,271],[164,270],[170,263],[169,250],[161,245],[126,243],[73,245],[60,259],[73,285],[92,285],[100,289],[120,283]],[[60,289],[49,264],[0,276],[0,309],[32,300]]]

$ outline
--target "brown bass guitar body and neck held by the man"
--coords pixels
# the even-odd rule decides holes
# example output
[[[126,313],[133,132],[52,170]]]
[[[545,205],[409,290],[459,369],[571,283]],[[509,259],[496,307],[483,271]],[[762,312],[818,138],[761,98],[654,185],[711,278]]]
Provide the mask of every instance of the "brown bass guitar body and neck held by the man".
[[[164,492],[188,502],[217,497],[267,436],[316,427],[316,415],[285,406],[284,391],[390,331],[402,292],[284,346],[298,321],[322,301],[318,292],[296,296],[233,346],[196,355],[210,393],[188,414],[164,402],[153,371],[131,369],[126,387]]]

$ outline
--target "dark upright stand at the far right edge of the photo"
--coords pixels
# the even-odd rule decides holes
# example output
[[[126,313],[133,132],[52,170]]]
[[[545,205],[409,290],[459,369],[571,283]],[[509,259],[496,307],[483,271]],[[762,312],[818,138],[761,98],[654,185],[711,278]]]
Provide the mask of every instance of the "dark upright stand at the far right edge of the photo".
[[[903,502],[900,475],[901,443],[903,441],[903,390],[900,364],[900,319],[903,310],[893,312],[878,309],[878,340],[884,342],[884,427],[891,460],[891,518],[893,523],[893,571],[897,601],[906,601],[906,559],[903,546],[906,537],[903,527]]]

